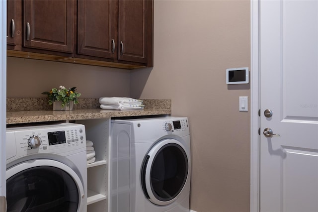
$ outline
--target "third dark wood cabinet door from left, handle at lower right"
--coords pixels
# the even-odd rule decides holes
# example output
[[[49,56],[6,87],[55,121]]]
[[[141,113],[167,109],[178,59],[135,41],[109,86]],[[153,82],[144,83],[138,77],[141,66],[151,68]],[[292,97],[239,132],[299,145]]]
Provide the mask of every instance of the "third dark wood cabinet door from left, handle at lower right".
[[[117,56],[117,0],[78,1],[78,54]]]

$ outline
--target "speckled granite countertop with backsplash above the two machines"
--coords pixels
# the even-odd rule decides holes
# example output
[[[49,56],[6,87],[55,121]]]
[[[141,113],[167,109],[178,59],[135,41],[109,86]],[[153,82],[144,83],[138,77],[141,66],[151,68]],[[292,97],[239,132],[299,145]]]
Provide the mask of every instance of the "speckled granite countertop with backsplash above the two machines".
[[[74,110],[53,111],[45,98],[7,98],[6,124],[171,114],[171,100],[144,100],[144,105],[138,110],[107,110],[99,109],[98,99],[79,99]]]

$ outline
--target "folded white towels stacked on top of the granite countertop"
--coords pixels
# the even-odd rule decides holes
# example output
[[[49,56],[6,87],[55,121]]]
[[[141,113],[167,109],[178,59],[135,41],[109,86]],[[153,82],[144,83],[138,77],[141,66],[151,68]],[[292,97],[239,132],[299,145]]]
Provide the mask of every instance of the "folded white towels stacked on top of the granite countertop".
[[[101,97],[99,98],[102,109],[144,109],[143,101],[128,97]]]

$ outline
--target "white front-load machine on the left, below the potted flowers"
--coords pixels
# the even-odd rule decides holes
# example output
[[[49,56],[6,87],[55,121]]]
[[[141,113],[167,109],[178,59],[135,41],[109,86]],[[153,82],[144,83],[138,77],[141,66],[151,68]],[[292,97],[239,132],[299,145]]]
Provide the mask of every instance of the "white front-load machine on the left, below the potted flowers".
[[[86,212],[85,127],[6,129],[7,212]]]

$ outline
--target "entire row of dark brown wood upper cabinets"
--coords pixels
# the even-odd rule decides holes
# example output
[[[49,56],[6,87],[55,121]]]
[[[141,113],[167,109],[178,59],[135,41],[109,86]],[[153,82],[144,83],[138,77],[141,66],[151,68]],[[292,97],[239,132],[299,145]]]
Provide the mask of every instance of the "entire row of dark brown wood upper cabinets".
[[[153,3],[7,0],[7,49],[17,50],[8,55],[128,69],[152,67]]]

